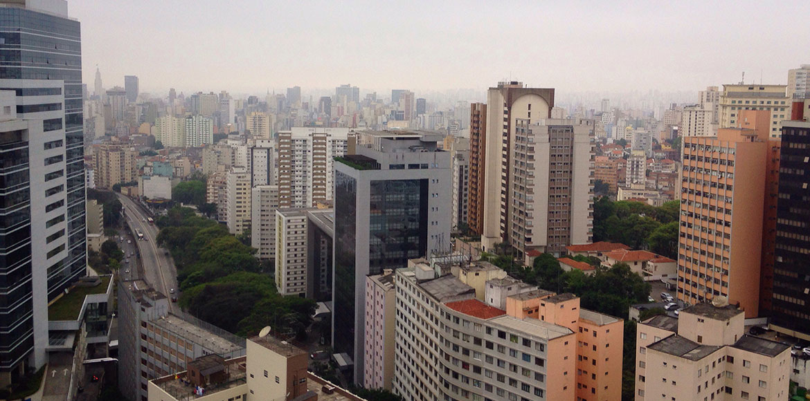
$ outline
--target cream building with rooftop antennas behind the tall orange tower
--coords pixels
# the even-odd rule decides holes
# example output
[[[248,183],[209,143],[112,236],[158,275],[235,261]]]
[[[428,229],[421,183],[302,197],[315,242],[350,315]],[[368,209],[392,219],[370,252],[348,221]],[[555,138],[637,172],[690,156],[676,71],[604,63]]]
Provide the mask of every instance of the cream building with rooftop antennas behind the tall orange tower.
[[[720,95],[720,128],[733,128],[740,123],[744,110],[763,110],[770,115],[769,137],[782,135],[782,120],[791,119],[791,99],[785,85],[723,85]]]

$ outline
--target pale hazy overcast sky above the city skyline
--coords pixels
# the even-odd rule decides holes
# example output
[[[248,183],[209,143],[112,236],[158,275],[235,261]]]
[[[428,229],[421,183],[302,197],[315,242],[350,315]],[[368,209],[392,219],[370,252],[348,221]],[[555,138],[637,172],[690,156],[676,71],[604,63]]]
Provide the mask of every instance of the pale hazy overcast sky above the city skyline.
[[[810,2],[69,0],[84,82],[141,91],[574,91],[787,83],[810,64]]]

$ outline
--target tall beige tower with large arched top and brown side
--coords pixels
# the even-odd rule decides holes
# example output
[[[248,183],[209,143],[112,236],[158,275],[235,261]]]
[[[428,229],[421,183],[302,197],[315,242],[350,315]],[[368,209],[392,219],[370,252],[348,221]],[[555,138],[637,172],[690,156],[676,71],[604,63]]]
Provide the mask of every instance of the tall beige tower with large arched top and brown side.
[[[484,172],[486,191],[481,242],[484,249],[490,250],[496,243],[511,243],[514,127],[518,119],[527,120],[526,124],[531,125],[549,118],[554,107],[554,90],[527,88],[516,81],[498,82],[497,87],[489,88],[487,104],[485,154],[489,168]],[[527,166],[526,161],[522,163]]]

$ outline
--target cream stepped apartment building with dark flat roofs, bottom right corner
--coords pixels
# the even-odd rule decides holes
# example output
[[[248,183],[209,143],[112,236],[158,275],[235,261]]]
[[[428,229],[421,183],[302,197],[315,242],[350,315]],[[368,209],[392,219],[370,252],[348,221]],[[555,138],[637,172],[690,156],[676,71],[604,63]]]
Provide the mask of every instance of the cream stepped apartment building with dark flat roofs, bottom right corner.
[[[636,401],[787,399],[791,347],[744,334],[744,313],[718,299],[637,326]]]

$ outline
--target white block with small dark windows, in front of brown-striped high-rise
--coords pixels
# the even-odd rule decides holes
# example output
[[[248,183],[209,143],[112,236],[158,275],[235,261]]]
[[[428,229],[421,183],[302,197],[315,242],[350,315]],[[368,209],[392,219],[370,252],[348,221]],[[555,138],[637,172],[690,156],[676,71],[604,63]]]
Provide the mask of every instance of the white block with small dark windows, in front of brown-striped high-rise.
[[[306,296],[307,217],[304,209],[275,210],[275,285],[282,295]]]

